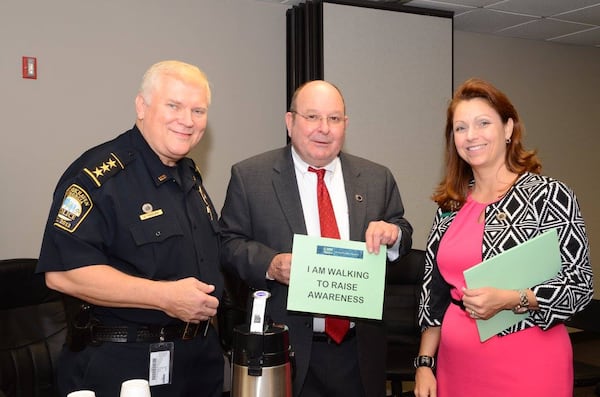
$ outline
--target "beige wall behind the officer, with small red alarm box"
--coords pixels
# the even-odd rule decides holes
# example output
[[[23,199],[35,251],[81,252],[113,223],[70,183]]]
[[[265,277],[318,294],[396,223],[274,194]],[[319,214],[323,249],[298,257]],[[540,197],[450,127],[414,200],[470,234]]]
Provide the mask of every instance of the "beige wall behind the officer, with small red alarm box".
[[[230,165],[285,143],[285,12],[255,0],[0,2],[0,257],[37,257],[54,186],[84,149],[129,129],[143,72],[197,64],[213,89],[192,156],[221,208]],[[21,78],[35,56],[38,79]]]

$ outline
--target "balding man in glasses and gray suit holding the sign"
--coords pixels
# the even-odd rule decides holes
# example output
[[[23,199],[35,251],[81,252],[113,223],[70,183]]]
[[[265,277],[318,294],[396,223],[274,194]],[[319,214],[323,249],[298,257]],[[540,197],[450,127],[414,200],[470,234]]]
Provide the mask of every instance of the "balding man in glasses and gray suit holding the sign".
[[[412,227],[396,181],[384,166],[341,152],[348,116],[340,90],[325,81],[299,87],[285,115],[291,144],[235,164],[221,212],[223,266],[252,289],[271,292],[267,315],[289,328],[295,352],[294,396],[385,396],[385,327],[349,318],[337,343],[322,316],[286,310],[294,234],[321,235],[317,175],[325,168],[343,240],[388,247],[397,261],[412,244]]]

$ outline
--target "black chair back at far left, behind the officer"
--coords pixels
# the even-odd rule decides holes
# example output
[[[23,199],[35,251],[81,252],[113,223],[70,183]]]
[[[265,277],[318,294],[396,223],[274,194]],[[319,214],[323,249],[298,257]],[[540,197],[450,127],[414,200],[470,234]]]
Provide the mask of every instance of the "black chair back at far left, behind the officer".
[[[36,259],[0,261],[0,395],[55,397],[67,333],[62,295],[35,274]]]

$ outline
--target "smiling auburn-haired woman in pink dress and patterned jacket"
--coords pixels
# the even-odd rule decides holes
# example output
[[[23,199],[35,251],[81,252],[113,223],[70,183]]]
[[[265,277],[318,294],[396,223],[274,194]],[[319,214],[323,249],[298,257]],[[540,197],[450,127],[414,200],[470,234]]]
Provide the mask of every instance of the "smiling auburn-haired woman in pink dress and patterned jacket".
[[[470,79],[455,92],[427,240],[417,397],[573,395],[564,321],[593,295],[589,243],[575,194],[540,175],[522,134],[517,111],[493,85]],[[522,290],[466,288],[464,270],[550,229],[562,262],[556,276]],[[476,320],[502,310],[529,315],[480,342]]]

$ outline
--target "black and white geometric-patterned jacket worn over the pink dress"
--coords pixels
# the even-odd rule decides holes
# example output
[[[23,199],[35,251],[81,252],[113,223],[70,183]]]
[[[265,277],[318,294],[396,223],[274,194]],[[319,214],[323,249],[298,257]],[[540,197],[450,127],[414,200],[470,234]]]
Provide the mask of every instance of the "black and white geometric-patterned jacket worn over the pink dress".
[[[500,215],[499,215],[500,214]],[[450,286],[439,273],[436,254],[456,212],[438,209],[427,239],[424,283],[419,305],[422,329],[439,326],[450,304]],[[592,299],[593,279],[585,224],[574,192],[555,179],[525,173],[499,201],[485,209],[482,257],[489,259],[546,230],[558,232],[562,267],[556,277],[531,286],[539,310],[504,330],[548,329],[582,310]]]

